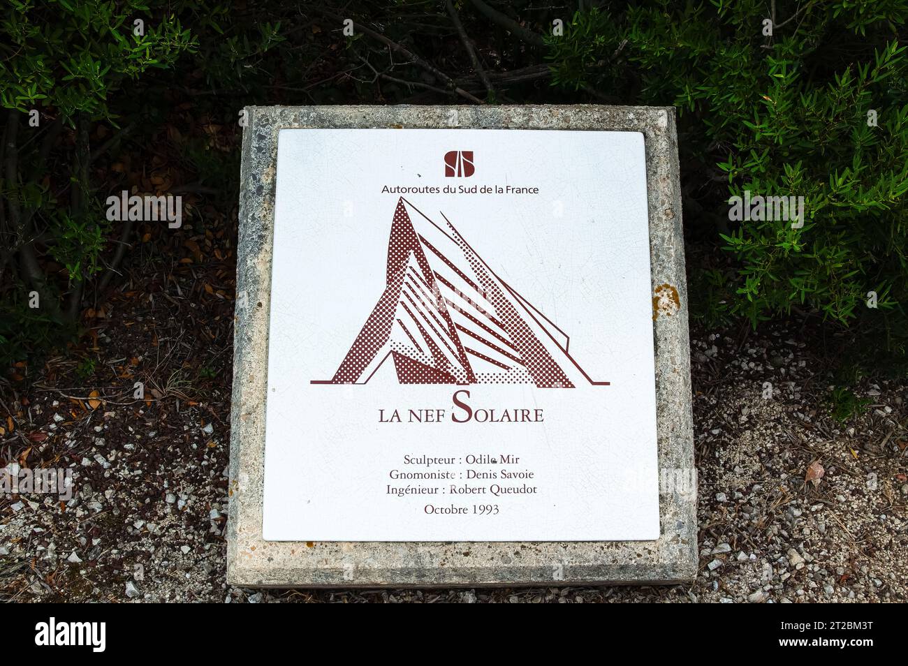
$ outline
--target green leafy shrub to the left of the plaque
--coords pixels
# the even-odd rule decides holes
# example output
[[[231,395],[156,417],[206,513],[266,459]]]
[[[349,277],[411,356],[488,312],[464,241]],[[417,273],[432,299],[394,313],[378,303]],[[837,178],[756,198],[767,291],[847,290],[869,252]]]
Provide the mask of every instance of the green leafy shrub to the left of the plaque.
[[[169,5],[12,0],[5,8],[0,283],[13,293],[5,294],[0,341],[9,348],[19,347],[20,329],[29,322],[72,328],[84,283],[102,268],[99,258],[111,229],[90,177],[89,128],[100,120],[116,126],[119,113],[112,104],[128,83],[172,66],[195,48],[189,30],[165,13]],[[73,130],[71,143],[64,141],[67,128]],[[62,279],[46,274],[45,259],[63,267]],[[25,312],[25,294],[35,291],[38,312]]]

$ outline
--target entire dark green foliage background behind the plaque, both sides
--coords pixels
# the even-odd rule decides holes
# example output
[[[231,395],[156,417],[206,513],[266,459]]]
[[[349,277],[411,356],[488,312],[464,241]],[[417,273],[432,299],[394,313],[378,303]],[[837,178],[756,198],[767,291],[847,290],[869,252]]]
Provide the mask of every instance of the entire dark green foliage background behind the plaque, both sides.
[[[908,0],[11,0],[0,360],[28,381],[64,352],[90,376],[110,304],[174,271],[232,301],[246,104],[622,103],[679,113],[697,318],[815,320],[844,369],[903,374],[906,18]],[[122,190],[181,194],[183,228],[106,220]],[[804,227],[729,221],[745,190],[804,196]]]

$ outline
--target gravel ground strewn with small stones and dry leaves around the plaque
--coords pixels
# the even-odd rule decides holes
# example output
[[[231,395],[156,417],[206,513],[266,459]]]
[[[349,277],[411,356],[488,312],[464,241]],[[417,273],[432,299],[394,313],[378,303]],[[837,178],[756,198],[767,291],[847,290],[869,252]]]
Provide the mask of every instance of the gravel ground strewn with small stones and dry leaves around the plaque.
[[[68,502],[55,495],[0,496],[0,598],[908,601],[905,385],[864,379],[854,387],[866,403],[861,412],[834,420],[830,355],[815,343],[819,334],[779,325],[749,335],[741,329],[692,332],[700,525],[695,583],[468,591],[232,588],[224,580],[232,306],[192,267],[174,275],[167,280],[175,283],[167,289],[173,294],[154,299],[124,292],[101,313],[92,348],[99,362],[82,385],[76,386],[84,364],[62,358],[36,371],[27,392],[15,382],[0,383],[0,464],[70,467],[76,489]],[[196,292],[207,299],[193,298]],[[150,351],[136,357],[136,348]],[[147,399],[133,398],[133,380],[146,382]],[[99,391],[94,397],[93,390]]]

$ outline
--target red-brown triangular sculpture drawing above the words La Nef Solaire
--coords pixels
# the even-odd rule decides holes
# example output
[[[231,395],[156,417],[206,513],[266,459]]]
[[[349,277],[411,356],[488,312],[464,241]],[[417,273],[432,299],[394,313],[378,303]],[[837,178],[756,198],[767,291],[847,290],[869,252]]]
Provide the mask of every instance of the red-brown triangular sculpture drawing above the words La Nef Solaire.
[[[388,243],[387,286],[334,377],[365,384],[391,357],[400,384],[593,381],[568,353],[568,335],[482,260],[454,225],[400,199]]]

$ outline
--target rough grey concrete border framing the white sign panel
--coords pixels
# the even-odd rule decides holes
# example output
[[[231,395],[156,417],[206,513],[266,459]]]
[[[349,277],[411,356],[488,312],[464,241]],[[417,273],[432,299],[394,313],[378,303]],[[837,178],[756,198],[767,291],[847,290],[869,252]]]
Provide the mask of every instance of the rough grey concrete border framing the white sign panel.
[[[696,575],[696,479],[675,110],[631,106],[248,107],[233,338],[227,580],[251,587],[675,583]],[[262,540],[265,394],[278,131],[292,127],[643,132],[656,341],[660,537],[654,542],[317,543]],[[695,486],[696,488],[696,486]]]

